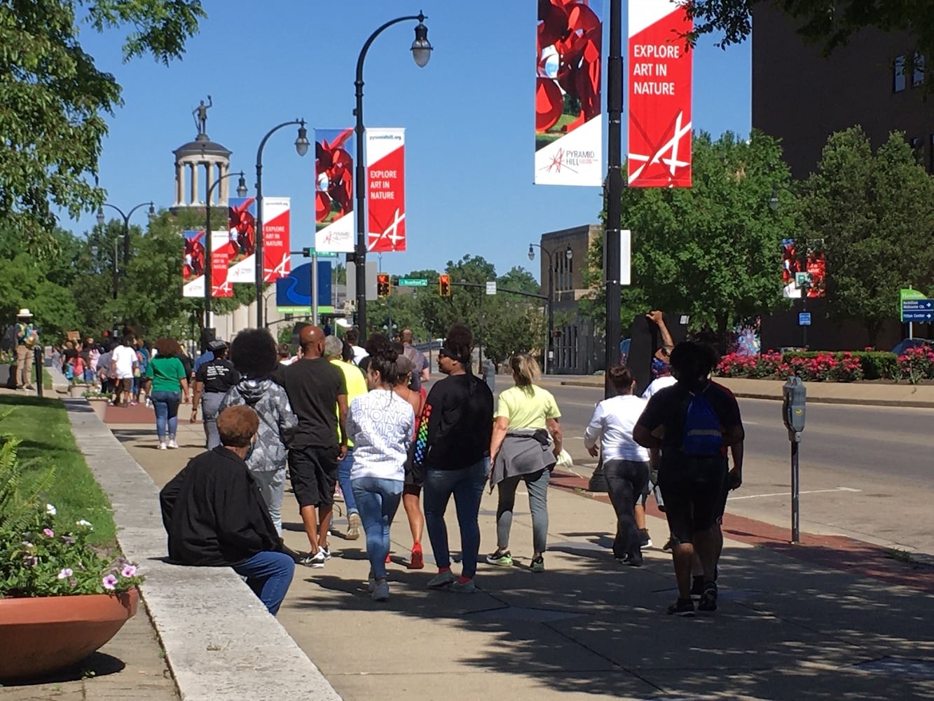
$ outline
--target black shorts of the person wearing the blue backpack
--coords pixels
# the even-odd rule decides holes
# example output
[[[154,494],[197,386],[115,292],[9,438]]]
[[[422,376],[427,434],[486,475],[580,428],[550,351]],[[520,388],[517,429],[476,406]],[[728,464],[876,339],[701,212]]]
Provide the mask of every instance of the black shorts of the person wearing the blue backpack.
[[[726,505],[727,461],[692,459],[690,465],[662,465],[658,487],[672,536],[690,543],[695,533],[710,529]]]

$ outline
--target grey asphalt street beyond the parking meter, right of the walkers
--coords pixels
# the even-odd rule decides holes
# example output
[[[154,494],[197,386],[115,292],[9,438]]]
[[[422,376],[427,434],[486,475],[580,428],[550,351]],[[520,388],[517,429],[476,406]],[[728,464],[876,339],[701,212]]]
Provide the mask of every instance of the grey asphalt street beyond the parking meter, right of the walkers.
[[[550,379],[545,384],[558,399],[575,468],[589,475],[596,461],[579,436],[602,391]],[[746,425],[745,482],[730,497],[728,509],[787,526],[790,444],[781,404],[739,401]],[[932,425],[934,409],[809,404],[800,447],[802,530],[934,554]]]

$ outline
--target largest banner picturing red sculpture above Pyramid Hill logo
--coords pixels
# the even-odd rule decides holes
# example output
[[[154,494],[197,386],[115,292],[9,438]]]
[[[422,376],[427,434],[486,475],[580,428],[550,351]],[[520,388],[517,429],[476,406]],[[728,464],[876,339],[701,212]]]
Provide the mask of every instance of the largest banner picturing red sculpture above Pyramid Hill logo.
[[[603,182],[602,5],[601,0],[538,2],[536,185]]]

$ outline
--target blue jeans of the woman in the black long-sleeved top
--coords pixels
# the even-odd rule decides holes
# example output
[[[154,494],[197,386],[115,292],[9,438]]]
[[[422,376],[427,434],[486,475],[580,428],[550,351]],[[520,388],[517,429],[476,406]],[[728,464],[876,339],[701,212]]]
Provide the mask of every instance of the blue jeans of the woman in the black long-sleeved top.
[[[489,458],[460,470],[425,469],[423,504],[428,537],[432,541],[434,561],[439,568],[451,566],[451,553],[447,545],[445,509],[454,494],[454,507],[458,511],[460,526],[460,555],[464,577],[476,574],[476,560],[480,553],[480,499],[489,474]]]

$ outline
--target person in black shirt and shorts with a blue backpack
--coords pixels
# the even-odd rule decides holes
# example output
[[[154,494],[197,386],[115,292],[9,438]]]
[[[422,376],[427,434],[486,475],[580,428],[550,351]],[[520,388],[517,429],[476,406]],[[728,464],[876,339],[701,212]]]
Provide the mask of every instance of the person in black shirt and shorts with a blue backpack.
[[[672,350],[672,375],[677,383],[655,393],[632,431],[633,439],[649,449],[661,449],[658,487],[665,499],[669,528],[679,543],[672,548],[678,600],[668,612],[693,616],[690,598],[691,564],[697,548],[703,566],[701,610],[716,609],[716,544],[711,531],[727,479],[729,446],[742,443],[743,421],[731,393],[711,383],[711,354],[699,344],[679,343]],[[711,455],[686,454],[683,446],[687,408],[702,396],[720,424],[722,450]]]

